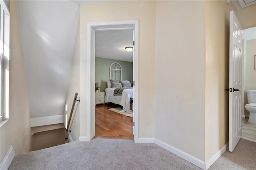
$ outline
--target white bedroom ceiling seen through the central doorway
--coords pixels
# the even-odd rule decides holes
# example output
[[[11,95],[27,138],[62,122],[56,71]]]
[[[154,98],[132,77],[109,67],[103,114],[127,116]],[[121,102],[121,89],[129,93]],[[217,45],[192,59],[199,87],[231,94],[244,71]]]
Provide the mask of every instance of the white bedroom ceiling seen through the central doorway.
[[[96,57],[132,62],[132,51],[125,47],[132,47],[132,29],[96,30]]]

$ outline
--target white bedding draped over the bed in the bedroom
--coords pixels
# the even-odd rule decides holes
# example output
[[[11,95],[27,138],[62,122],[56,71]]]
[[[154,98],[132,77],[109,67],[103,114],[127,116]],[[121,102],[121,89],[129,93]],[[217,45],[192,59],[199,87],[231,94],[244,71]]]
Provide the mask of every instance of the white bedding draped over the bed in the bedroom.
[[[106,88],[105,103],[112,102],[123,106],[123,111],[130,111],[130,98],[133,98],[133,89],[124,89],[122,96],[114,96],[114,90],[116,88]]]

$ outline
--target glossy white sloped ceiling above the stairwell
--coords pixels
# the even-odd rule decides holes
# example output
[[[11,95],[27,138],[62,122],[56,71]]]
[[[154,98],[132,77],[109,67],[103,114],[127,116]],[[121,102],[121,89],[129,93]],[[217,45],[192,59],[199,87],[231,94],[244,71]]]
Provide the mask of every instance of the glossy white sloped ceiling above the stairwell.
[[[79,4],[16,1],[31,118],[63,115]]]

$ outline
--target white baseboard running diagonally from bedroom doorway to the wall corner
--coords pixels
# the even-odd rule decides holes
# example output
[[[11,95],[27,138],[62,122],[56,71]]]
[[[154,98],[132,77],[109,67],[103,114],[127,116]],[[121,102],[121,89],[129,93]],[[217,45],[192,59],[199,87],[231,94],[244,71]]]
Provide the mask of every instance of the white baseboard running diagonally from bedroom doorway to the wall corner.
[[[194,164],[202,169],[206,169],[206,164],[204,161],[202,161],[202,160],[200,160],[182,150],[172,147],[171,145],[168,145],[167,143],[164,143],[158,139],[155,139],[155,144],[176,154],[177,156],[180,156],[181,158],[187,160],[188,162],[191,162],[192,164]]]

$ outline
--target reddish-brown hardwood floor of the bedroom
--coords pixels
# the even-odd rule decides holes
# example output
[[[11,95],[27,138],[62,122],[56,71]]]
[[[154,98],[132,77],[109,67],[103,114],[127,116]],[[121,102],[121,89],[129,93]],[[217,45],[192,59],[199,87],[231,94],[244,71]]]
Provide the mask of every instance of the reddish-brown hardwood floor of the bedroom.
[[[109,108],[114,104],[95,106],[95,137],[111,139],[134,139],[133,117],[118,114]]]

